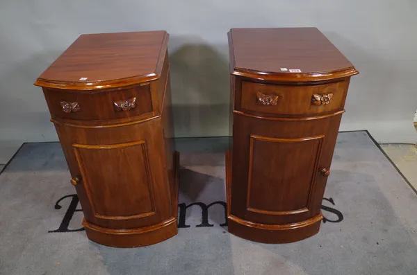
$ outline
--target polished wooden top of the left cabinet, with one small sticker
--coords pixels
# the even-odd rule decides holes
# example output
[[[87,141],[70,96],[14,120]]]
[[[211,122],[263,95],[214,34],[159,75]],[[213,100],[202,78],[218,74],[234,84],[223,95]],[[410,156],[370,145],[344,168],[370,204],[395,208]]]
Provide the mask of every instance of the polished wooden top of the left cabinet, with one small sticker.
[[[81,35],[35,85],[58,89],[109,89],[161,76],[165,30]]]

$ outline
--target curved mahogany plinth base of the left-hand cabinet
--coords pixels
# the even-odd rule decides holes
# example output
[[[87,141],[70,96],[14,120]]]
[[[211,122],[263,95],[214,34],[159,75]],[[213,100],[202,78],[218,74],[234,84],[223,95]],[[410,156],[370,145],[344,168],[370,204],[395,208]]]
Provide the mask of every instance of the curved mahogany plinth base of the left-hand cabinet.
[[[85,219],[83,226],[90,240],[108,247],[145,247],[167,240],[178,233],[175,218],[139,229],[107,229],[90,224]]]

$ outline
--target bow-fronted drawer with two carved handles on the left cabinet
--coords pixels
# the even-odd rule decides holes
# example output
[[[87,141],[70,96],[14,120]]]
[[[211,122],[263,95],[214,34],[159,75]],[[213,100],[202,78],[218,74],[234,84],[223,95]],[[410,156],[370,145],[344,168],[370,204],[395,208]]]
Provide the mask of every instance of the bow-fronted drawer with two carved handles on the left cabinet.
[[[104,121],[152,112],[149,85],[91,94],[44,88],[53,118]]]

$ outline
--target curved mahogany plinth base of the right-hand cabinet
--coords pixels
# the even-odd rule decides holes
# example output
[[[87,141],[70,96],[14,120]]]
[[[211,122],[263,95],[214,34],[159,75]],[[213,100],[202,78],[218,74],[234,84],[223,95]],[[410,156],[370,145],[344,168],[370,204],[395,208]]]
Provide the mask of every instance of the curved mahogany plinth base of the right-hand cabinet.
[[[322,215],[294,224],[259,224],[249,222],[229,215],[227,223],[229,232],[246,240],[264,242],[269,244],[281,244],[297,242],[316,235],[320,229]]]

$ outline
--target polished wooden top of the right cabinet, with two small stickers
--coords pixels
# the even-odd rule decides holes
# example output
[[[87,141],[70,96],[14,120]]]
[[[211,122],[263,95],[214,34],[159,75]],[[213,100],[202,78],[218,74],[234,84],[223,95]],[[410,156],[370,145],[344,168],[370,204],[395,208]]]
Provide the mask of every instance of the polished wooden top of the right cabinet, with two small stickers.
[[[315,81],[359,73],[317,28],[232,28],[228,36],[236,76]]]

